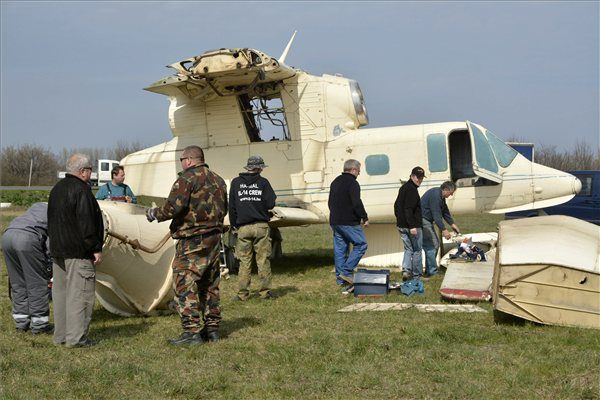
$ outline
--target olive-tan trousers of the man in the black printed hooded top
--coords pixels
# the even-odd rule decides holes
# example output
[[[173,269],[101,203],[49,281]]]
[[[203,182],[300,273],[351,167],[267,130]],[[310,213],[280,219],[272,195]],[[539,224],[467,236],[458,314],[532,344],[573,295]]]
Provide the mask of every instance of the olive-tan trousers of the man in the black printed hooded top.
[[[266,296],[271,289],[271,237],[269,224],[257,222],[240,226],[238,228],[235,255],[240,259],[238,273],[238,297],[246,300],[250,296],[250,271],[252,268],[252,255],[256,256],[258,277],[260,279],[260,295]]]

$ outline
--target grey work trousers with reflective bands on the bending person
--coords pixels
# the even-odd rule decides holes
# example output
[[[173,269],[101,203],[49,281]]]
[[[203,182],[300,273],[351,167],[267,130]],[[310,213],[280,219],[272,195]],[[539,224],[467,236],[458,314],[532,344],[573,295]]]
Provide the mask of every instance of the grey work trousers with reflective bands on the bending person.
[[[33,331],[48,325],[50,290],[48,258],[42,238],[33,232],[9,229],[2,249],[10,279],[12,316],[17,329]]]

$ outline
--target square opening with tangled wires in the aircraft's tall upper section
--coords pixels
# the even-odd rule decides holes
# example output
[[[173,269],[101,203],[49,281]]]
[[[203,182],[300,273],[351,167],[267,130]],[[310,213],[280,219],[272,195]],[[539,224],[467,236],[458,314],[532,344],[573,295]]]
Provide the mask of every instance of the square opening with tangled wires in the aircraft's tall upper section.
[[[238,104],[251,142],[291,139],[279,93],[253,97],[242,94]]]

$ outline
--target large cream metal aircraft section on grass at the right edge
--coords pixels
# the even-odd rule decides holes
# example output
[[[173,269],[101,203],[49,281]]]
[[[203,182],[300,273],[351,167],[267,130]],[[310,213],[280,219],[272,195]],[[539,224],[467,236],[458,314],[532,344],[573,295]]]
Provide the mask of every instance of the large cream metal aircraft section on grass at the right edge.
[[[565,216],[500,223],[494,308],[530,321],[600,329],[600,228]]]

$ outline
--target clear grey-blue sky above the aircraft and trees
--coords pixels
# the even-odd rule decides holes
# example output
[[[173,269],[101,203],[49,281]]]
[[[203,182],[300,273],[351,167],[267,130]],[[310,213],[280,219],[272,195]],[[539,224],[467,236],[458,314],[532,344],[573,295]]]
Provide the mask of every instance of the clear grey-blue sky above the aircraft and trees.
[[[368,127],[471,120],[599,146],[599,2],[1,3],[2,146],[169,140],[165,65],[251,47],[365,94]]]

